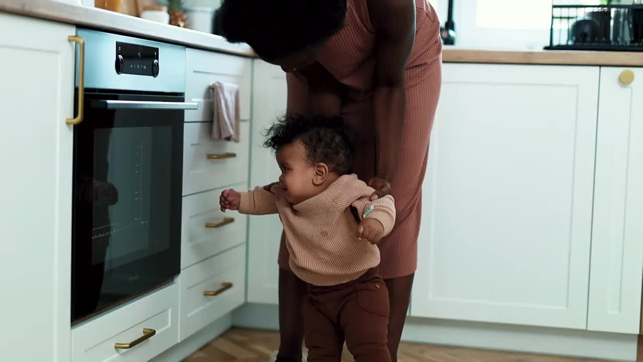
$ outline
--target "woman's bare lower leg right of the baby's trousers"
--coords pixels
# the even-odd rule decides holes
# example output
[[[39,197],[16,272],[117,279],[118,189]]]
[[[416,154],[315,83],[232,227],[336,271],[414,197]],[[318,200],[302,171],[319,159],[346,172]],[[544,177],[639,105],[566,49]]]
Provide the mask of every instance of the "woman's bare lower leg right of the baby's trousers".
[[[384,281],[388,289],[388,301],[390,304],[390,314],[388,316],[388,352],[390,352],[392,362],[397,362],[397,348],[402,338],[402,330],[404,329],[404,322],[406,321],[408,305],[411,301],[413,276],[415,276],[415,274]]]

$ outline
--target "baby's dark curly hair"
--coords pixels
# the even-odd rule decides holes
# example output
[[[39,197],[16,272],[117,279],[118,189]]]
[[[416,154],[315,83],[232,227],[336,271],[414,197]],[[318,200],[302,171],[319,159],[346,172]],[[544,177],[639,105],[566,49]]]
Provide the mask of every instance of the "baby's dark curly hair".
[[[340,176],[352,173],[356,136],[339,115],[284,115],[264,135],[264,147],[275,152],[299,140],[311,164],[323,162]]]

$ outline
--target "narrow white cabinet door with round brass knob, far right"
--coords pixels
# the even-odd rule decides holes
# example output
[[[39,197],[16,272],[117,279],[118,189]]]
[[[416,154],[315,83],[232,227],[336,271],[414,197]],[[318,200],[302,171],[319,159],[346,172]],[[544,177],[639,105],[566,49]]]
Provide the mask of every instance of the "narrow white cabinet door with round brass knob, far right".
[[[587,328],[638,334],[643,274],[643,70],[601,68]]]

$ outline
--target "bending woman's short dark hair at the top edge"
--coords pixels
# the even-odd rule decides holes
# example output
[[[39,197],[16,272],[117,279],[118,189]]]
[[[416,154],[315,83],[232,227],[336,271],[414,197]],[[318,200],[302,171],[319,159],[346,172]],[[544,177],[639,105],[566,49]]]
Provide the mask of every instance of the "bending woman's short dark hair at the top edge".
[[[214,33],[274,59],[320,45],[344,26],[347,0],[223,0]]]

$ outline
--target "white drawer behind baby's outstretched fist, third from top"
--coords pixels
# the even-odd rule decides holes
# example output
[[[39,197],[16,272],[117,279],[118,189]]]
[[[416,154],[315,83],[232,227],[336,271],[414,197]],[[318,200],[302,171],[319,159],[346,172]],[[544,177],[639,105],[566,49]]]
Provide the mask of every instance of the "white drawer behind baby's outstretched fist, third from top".
[[[231,188],[245,191],[246,184]],[[248,216],[235,211],[221,212],[219,196],[223,190],[183,198],[181,269],[246,242]]]

